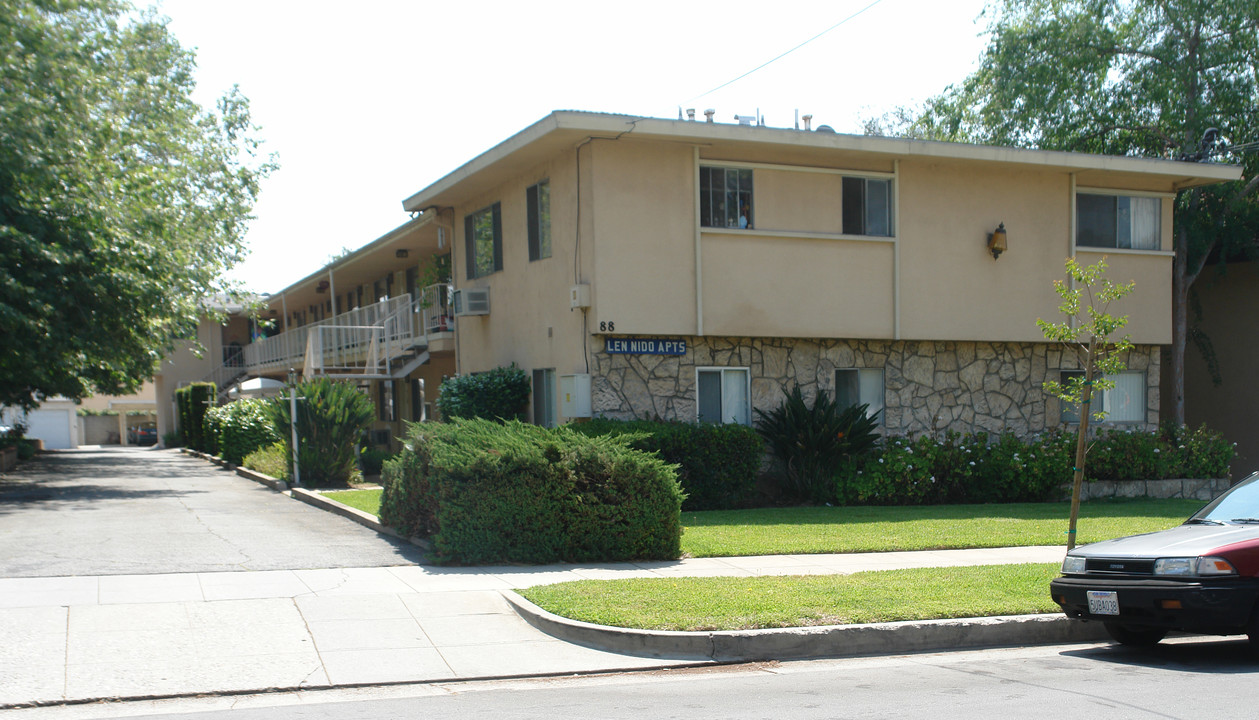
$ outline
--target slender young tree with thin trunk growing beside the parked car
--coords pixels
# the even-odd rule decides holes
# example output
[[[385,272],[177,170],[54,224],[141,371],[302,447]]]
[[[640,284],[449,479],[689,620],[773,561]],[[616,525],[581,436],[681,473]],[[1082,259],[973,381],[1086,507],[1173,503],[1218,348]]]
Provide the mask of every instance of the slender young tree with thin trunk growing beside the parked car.
[[[1066,259],[1066,274],[1070,284],[1058,279],[1054,290],[1063,298],[1058,308],[1064,316],[1063,322],[1036,320],[1036,326],[1045,339],[1060,342],[1066,351],[1075,355],[1084,375],[1073,376],[1063,384],[1047,380],[1045,391],[1064,403],[1080,407],[1080,425],[1075,434],[1075,464],[1071,475],[1071,517],[1066,529],[1066,549],[1075,548],[1075,524],[1080,515],[1080,486],[1084,482],[1084,462],[1088,454],[1089,420],[1105,419],[1104,410],[1093,410],[1093,391],[1114,388],[1114,375],[1123,370],[1123,354],[1132,350],[1132,342],[1124,335],[1118,340],[1112,336],[1128,325],[1128,316],[1115,317],[1108,311],[1110,303],[1132,292],[1136,283],[1115,284],[1107,279],[1105,258],[1088,267],[1080,267],[1075,258]]]

